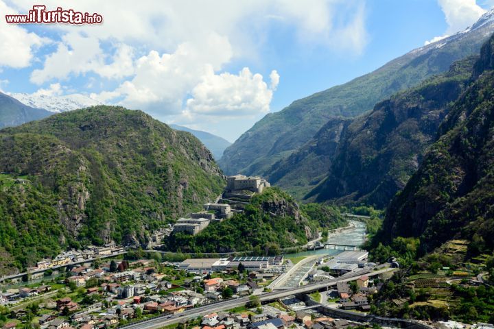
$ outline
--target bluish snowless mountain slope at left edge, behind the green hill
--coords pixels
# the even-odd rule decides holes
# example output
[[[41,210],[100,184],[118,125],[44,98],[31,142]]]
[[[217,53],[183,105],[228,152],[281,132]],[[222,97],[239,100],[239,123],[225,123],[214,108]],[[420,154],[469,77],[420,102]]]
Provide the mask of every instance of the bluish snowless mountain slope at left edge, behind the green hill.
[[[32,108],[17,99],[0,93],[0,129],[22,125],[23,123],[43,119],[51,115],[47,110]]]

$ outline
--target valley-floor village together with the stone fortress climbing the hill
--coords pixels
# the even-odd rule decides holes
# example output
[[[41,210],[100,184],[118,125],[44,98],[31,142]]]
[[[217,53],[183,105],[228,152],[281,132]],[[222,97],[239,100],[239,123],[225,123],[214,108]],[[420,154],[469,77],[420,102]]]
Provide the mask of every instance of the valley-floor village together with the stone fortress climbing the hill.
[[[4,280],[0,293],[2,329],[21,325],[39,328],[116,328],[154,317],[174,317],[187,310],[226,300],[249,297],[248,305],[194,319],[188,326],[226,328],[344,328],[351,322],[319,316],[303,297],[290,295],[268,304],[259,296],[276,289],[356,275],[314,293],[317,303],[344,310],[368,312],[368,296],[377,293],[379,278],[367,273],[368,252],[347,250],[336,256],[285,257],[224,256],[163,260],[153,251],[173,232],[198,234],[213,221],[242,212],[255,193],[270,186],[261,178],[235,175],[213,203],[150,234],[150,241],[135,258],[135,249],[108,243],[68,250],[54,259],[41,260],[28,276]],[[142,249],[141,249],[142,251]],[[392,267],[391,263],[385,265]],[[376,267],[378,268],[378,267]],[[308,296],[308,295],[307,295]],[[1,320],[1,319],[0,319]]]

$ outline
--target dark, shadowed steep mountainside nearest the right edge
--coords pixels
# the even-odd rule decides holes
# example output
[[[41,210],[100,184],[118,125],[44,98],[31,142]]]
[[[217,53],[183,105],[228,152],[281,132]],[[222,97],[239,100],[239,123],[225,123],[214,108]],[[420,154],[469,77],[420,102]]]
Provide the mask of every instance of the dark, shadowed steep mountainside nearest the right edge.
[[[473,253],[494,248],[493,42],[482,48],[472,84],[456,101],[442,136],[388,208],[376,241],[419,236],[425,252],[461,237]]]

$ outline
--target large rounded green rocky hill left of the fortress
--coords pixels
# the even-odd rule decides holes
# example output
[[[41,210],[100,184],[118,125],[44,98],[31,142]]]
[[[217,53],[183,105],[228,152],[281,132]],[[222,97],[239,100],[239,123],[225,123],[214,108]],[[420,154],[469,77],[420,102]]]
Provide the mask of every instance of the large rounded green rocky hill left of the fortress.
[[[0,172],[0,254],[15,260],[6,271],[81,243],[147,241],[225,184],[196,137],[111,106],[1,130]]]

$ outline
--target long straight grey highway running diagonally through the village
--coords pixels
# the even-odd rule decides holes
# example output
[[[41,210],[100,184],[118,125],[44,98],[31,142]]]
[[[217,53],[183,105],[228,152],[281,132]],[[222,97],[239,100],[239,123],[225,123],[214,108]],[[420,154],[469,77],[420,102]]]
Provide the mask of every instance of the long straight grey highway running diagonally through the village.
[[[272,293],[265,293],[263,295],[259,295],[259,300],[261,302],[269,302],[271,300],[279,300],[280,298],[284,298],[290,295],[296,295],[299,293],[310,293],[311,291],[316,291],[319,289],[325,289],[327,287],[335,286],[337,282],[348,282],[356,280],[360,278],[360,276],[366,274],[368,276],[377,276],[380,273],[384,273],[386,271],[393,271],[395,269],[386,268],[380,269],[379,271],[360,271],[359,273],[351,276],[346,276],[344,278],[336,278],[334,280],[328,280],[326,282],[318,282],[314,284],[307,284],[302,287],[297,287],[293,289],[286,289],[282,291],[274,291]],[[198,308],[192,308],[191,310],[186,310],[183,313],[177,315],[161,315],[152,319],[142,320],[135,322],[134,324],[128,324],[126,326],[121,326],[118,328],[125,329],[158,329],[163,328],[165,326],[169,326],[171,324],[176,324],[177,322],[188,320],[188,319],[196,319],[197,317],[202,317],[209,313],[220,312],[222,310],[229,310],[231,308],[235,308],[238,306],[244,306],[249,301],[249,297],[237,298],[234,300],[225,300],[223,302],[217,302],[215,304],[209,304],[200,306]]]

